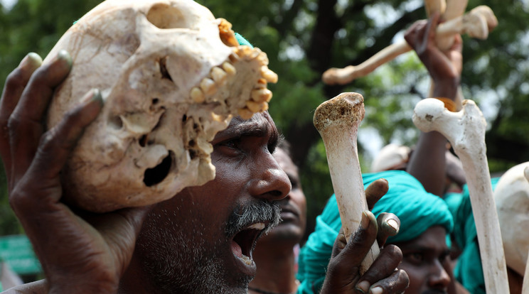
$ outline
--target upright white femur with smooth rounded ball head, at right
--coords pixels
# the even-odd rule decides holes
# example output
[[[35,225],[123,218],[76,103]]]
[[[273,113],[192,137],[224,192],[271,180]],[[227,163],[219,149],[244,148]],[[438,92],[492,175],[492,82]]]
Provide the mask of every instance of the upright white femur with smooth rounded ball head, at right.
[[[429,98],[415,106],[413,122],[421,131],[443,134],[461,159],[476,222],[487,293],[509,293],[500,224],[488,171],[483,114],[471,100],[463,101],[461,111],[451,112],[443,102]]]

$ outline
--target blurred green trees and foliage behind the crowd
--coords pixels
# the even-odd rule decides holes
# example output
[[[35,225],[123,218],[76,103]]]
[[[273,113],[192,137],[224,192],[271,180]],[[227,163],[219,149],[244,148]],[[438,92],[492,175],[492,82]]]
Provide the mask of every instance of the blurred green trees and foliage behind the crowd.
[[[328,67],[356,65],[392,43],[424,18],[420,0],[197,0],[233,23],[235,31],[265,51],[279,75],[270,85],[270,112],[291,141],[309,202],[309,230],[332,193],[325,150],[312,125],[314,109],[340,92],[359,92],[366,117],[360,128],[362,170],[368,171],[373,146],[412,145],[418,135],[412,109],[427,93],[427,72],[414,53],[402,55],[368,77],[328,87]],[[18,0],[0,13],[0,81],[26,53],[46,56],[60,36],[97,0]],[[469,1],[486,4],[499,26],[488,40],[464,37],[464,96],[474,99],[488,121],[486,134],[492,172],[529,160],[529,3],[528,0]],[[376,147],[375,147],[376,148]],[[3,172],[3,170],[2,170]],[[21,227],[9,209],[4,174],[0,195],[0,235]]]

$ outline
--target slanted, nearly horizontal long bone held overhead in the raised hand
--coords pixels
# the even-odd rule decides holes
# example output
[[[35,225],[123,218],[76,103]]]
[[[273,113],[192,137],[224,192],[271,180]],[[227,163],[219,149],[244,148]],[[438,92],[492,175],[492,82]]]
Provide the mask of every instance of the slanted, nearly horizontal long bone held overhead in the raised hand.
[[[486,39],[488,32],[498,25],[498,20],[488,6],[477,6],[464,16],[460,16],[437,27],[437,38],[452,36],[454,34],[468,34],[472,38]],[[330,68],[324,72],[322,80],[328,85],[346,85],[358,77],[364,77],[373,72],[377,67],[396,58],[398,55],[412,50],[406,41],[393,43],[380,50],[360,65],[348,65],[344,68]]]

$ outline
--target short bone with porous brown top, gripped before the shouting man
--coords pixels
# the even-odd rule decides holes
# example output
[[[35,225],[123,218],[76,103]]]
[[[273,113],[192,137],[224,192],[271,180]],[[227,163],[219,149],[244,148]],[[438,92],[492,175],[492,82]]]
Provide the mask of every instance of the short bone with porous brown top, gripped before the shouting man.
[[[368,209],[357,148],[358,125],[364,114],[363,97],[358,93],[339,94],[314,112],[314,126],[324,140],[346,240],[358,228],[362,212]],[[360,266],[360,273],[365,273],[379,253],[375,241]]]

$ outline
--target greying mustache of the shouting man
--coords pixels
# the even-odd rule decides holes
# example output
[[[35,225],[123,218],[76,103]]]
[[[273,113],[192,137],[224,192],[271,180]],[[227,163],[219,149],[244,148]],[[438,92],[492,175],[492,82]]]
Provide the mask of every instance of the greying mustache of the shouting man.
[[[226,235],[233,236],[250,224],[257,222],[267,223],[265,233],[281,222],[281,208],[276,201],[262,200],[251,205],[240,205],[233,210],[226,224]]]

